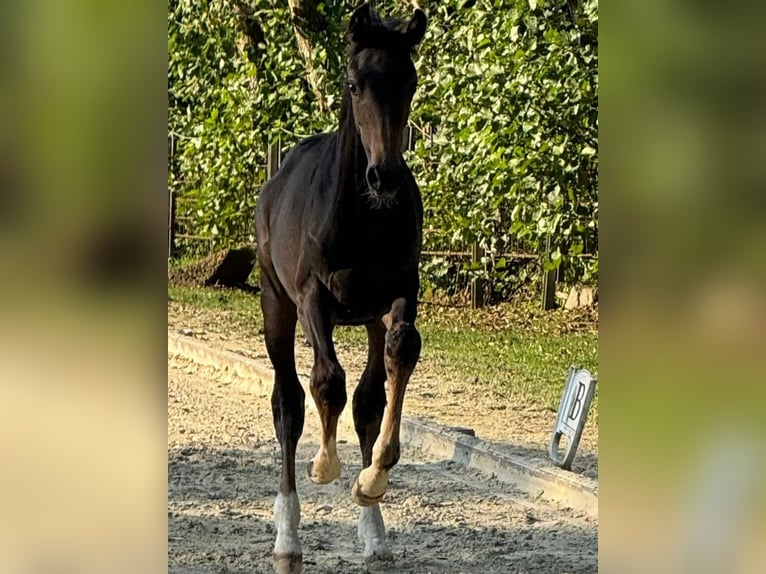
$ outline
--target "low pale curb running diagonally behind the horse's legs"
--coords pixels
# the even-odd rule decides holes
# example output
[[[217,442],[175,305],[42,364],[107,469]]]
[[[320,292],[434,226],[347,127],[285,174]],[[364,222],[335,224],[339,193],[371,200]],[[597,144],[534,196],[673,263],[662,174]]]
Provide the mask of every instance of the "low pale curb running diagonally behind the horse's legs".
[[[238,353],[217,349],[204,341],[168,332],[168,354],[233,372],[238,377],[237,387],[246,391],[265,395],[271,393],[272,369]],[[304,385],[308,385],[305,376],[299,378]],[[306,393],[306,405],[316,410],[310,393]],[[344,409],[340,423],[346,430],[353,430],[351,409]],[[402,442],[405,444],[491,474],[535,498],[554,501],[562,506],[583,511],[589,516],[598,515],[596,480],[562,470],[550,463],[545,464],[544,459],[531,462],[499,452],[479,438],[418,417],[402,417],[401,432]]]

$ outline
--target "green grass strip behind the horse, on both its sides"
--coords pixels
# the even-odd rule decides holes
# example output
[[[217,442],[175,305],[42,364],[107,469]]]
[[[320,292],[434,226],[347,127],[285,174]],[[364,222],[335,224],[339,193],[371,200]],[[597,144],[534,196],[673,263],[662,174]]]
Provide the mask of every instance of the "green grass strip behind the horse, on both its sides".
[[[172,300],[216,311],[232,329],[256,333],[262,328],[259,298],[238,290],[168,287]],[[597,309],[549,311],[535,301],[503,303],[472,310],[424,303],[418,319],[422,361],[450,379],[486,383],[514,399],[558,408],[569,365],[598,376]],[[339,327],[336,341],[360,349],[365,330]],[[598,393],[591,407],[597,417]]]

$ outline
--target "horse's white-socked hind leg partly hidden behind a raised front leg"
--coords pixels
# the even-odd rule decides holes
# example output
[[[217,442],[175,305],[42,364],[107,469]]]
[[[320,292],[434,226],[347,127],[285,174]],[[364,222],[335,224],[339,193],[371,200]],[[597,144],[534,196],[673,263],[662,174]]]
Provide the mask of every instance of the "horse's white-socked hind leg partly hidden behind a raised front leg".
[[[367,367],[354,391],[354,426],[359,436],[363,468],[372,464],[372,448],[380,433],[386,406],[385,342],[386,327],[382,321],[367,325]],[[364,542],[364,559],[368,564],[393,559],[379,504],[361,509],[357,532]]]

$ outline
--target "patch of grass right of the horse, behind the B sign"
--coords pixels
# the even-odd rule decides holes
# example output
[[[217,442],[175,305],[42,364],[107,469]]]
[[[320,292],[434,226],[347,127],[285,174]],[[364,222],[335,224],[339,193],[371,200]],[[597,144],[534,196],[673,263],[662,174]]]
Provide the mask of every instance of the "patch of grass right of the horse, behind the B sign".
[[[477,310],[424,305],[419,325],[424,355],[437,368],[536,406],[558,409],[571,364],[598,376],[593,310],[543,312],[536,301]]]

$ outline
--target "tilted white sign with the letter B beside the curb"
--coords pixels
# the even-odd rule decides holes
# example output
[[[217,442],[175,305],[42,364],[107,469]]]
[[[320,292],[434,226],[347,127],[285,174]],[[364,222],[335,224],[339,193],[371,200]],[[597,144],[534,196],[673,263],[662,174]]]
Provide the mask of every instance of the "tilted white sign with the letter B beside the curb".
[[[548,447],[548,455],[553,463],[563,469],[572,468],[572,461],[577,452],[577,445],[580,444],[582,429],[585,427],[585,419],[595,391],[596,379],[587,370],[578,369],[574,365],[569,367],[564,394],[559,404],[559,414],[556,417],[556,425],[553,427],[553,435]],[[569,437],[569,446],[563,456],[559,452],[562,435]]]

